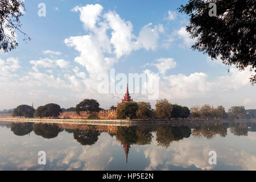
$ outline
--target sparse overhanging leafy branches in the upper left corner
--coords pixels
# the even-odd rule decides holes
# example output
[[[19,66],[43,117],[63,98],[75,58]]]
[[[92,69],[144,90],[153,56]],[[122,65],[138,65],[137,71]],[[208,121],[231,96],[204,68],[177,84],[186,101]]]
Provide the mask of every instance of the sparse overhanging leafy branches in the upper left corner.
[[[22,24],[19,18],[23,11],[26,10],[22,0],[0,0],[0,49],[5,52],[18,46],[15,30],[24,35],[23,40],[30,40],[30,37],[20,30]]]

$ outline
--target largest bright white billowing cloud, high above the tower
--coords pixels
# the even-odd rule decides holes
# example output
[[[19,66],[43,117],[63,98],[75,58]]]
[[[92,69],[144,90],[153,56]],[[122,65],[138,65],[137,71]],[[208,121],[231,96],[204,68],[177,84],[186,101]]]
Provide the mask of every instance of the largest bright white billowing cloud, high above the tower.
[[[138,38],[133,34],[133,24],[122,19],[114,11],[102,13],[101,5],[76,6],[72,11],[80,13],[80,20],[88,34],[72,36],[64,40],[69,47],[80,52],[75,62],[86,68],[89,78],[106,73],[120,57],[130,55],[140,48],[156,49],[159,34],[164,32],[162,24],[152,23],[142,27]],[[110,30],[110,34],[107,31]]]

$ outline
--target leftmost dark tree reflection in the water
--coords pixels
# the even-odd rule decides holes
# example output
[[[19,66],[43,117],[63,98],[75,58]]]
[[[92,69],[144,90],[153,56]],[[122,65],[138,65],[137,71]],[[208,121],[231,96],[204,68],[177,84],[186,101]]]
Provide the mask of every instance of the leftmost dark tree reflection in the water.
[[[11,123],[11,131],[17,136],[24,136],[33,131],[33,123]]]

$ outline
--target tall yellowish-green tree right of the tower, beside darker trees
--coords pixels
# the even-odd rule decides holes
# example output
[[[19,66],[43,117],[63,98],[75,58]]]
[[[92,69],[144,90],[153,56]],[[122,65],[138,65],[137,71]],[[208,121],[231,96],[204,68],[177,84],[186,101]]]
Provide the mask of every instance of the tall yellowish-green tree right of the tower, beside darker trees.
[[[157,100],[155,105],[156,117],[160,119],[171,119],[172,117],[172,104],[166,98]]]

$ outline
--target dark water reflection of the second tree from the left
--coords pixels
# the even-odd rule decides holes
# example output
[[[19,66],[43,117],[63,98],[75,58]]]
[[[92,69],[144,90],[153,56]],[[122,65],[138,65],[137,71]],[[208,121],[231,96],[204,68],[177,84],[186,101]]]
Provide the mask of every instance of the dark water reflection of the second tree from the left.
[[[43,138],[55,138],[57,135],[63,131],[57,125],[49,124],[33,124],[33,131],[36,135],[42,136]]]

